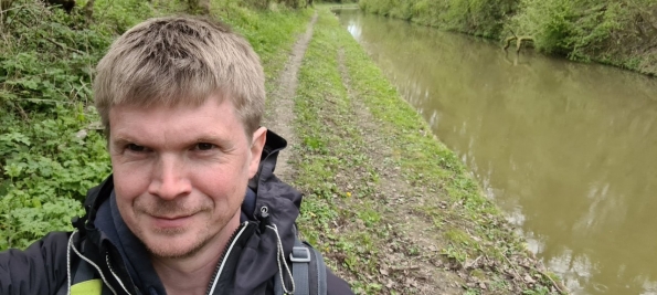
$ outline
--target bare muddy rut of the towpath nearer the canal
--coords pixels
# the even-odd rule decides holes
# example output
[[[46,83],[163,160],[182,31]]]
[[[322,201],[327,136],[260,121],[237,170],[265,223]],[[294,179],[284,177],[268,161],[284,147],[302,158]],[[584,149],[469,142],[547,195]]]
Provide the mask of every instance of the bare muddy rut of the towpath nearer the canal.
[[[351,78],[345,65],[345,51],[338,50],[338,70],[345,85],[351,108],[354,112],[356,126],[361,134],[364,145],[363,154],[369,155],[380,181],[374,189],[380,202],[374,202],[377,211],[384,212],[383,219],[395,234],[382,241],[386,247],[385,254],[380,255],[378,281],[384,282],[389,289],[402,294],[460,294],[460,278],[452,272],[444,272],[445,267],[439,257],[441,238],[431,229],[431,221],[417,214],[417,207],[424,206],[427,191],[414,188],[403,181],[401,167],[390,167],[385,159],[393,157],[390,146],[382,145],[385,138],[374,117],[362,102],[361,97],[351,89]],[[391,169],[392,168],[392,169]],[[357,179],[353,176],[345,178]],[[351,183],[356,186],[357,183]],[[349,186],[349,185],[348,185]],[[394,210],[389,210],[394,208]]]

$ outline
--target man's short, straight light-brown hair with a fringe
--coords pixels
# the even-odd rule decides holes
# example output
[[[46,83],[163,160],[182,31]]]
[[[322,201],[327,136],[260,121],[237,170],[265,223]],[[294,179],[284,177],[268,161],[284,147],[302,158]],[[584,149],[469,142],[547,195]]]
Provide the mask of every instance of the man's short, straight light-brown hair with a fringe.
[[[265,75],[248,42],[221,22],[166,17],[137,24],[110,46],[94,81],[95,104],[106,134],[119,104],[201,105],[229,97],[247,135],[265,108]]]

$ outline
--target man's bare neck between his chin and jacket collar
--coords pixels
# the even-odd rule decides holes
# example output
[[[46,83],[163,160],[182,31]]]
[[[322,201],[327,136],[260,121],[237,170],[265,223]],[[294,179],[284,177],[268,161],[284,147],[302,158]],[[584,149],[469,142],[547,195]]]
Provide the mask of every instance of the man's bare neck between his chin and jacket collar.
[[[151,256],[167,294],[205,294],[229,240],[240,226],[240,214],[194,255],[168,259]]]

